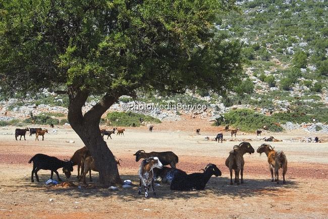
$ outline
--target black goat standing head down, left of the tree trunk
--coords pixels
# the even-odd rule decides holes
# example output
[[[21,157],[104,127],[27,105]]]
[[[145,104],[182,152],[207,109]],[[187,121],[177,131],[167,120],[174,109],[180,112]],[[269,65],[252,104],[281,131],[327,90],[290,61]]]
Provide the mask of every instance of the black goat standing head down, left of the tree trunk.
[[[51,171],[51,177],[53,172],[56,173],[57,178],[59,181],[62,181],[59,177],[59,174],[57,172],[58,169],[63,168],[63,173],[67,178],[71,177],[71,172],[73,172],[73,162],[71,161],[64,161],[60,160],[57,157],[54,156],[48,156],[42,153],[35,154],[29,163],[33,161],[33,169],[32,169],[32,175],[31,175],[31,182],[34,182],[33,174],[35,174],[36,181],[39,182],[39,177],[37,175],[37,172],[39,170],[50,170]]]

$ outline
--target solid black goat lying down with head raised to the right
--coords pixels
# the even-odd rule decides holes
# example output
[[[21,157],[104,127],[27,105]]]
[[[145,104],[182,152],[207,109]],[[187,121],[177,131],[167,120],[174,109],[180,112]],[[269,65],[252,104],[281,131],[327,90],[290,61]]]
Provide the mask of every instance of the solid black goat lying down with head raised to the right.
[[[176,176],[171,183],[171,190],[190,191],[203,190],[212,175],[221,176],[221,171],[212,163],[205,167],[204,173],[193,173],[186,176]]]

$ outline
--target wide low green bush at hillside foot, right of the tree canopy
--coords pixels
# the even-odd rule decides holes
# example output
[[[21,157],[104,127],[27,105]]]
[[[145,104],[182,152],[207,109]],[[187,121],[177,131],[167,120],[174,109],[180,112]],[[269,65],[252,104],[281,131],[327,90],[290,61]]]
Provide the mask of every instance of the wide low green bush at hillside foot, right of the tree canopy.
[[[277,121],[263,114],[255,113],[251,109],[236,109],[224,115],[226,123],[232,127],[239,128],[244,132],[254,132],[267,126],[271,132],[281,132],[283,129],[276,126]]]

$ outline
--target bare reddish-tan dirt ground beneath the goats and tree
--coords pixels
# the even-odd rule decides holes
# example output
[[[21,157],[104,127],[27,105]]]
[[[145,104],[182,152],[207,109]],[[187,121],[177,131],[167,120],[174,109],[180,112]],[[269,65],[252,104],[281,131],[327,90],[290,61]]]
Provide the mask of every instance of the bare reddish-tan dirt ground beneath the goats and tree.
[[[195,135],[195,129],[201,135]],[[220,127],[209,122],[185,118],[179,122],[155,125],[153,133],[146,127],[127,128],[125,136],[112,135],[105,140],[113,153],[123,160],[119,171],[123,180],[138,184],[139,162],[132,155],[145,151],[172,150],[179,156],[177,167],[188,173],[198,172],[211,162],[222,171],[221,177],[212,177],[204,191],[171,191],[169,185],[156,186],[157,196],[145,199],[137,187],[112,191],[94,181],[84,186],[76,180],[77,168],[70,179],[82,188],[47,187],[49,171],[39,171],[40,183],[31,183],[32,165],[27,161],[35,153],[70,158],[83,147],[82,141],[71,130],[60,128],[57,134],[45,135],[44,141],[15,141],[14,127],[0,130],[0,218],[326,218],[328,214],[328,143],[271,142],[288,157],[287,184],[270,182],[265,154],[245,154],[245,184],[229,185],[229,170],[224,162],[233,145],[240,141],[217,143],[213,138]],[[108,128],[107,128],[108,129]],[[314,137],[301,130],[274,135],[278,139]],[[328,138],[319,135],[319,138]],[[238,133],[237,139],[251,139],[254,149],[263,142],[255,134]],[[74,140],[75,143],[66,143]],[[61,172],[60,172],[61,174]],[[65,176],[61,174],[65,179]],[[57,179],[57,177],[54,177]],[[51,201],[50,201],[50,200]]]

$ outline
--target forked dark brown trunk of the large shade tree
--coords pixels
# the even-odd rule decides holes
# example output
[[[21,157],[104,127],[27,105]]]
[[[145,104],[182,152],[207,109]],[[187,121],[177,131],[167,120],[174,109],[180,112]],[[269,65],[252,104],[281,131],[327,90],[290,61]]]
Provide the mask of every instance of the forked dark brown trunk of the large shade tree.
[[[82,91],[73,93],[72,91],[69,93],[69,97],[68,120],[94,158],[95,165],[99,170],[100,183],[103,186],[122,185],[114,155],[102,139],[99,130],[101,115],[117,100],[118,95],[105,95],[85,115],[82,115],[82,106],[88,93]]]

